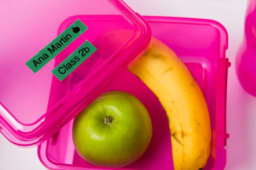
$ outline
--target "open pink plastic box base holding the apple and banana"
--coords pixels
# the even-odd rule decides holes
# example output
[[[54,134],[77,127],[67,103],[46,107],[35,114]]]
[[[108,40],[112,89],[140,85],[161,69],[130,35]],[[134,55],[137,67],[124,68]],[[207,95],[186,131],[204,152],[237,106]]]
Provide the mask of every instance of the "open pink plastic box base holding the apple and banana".
[[[85,18],[87,16],[84,16]],[[204,170],[223,170],[226,164],[226,88],[230,63],[225,58],[228,35],[212,20],[172,17],[145,17],[152,35],[164,42],[186,63],[200,85],[210,112],[212,151]],[[108,21],[115,19],[108,16]],[[67,84],[69,86],[69,84]],[[153,137],[147,151],[130,166],[119,169],[170,170],[172,148],[164,109],[156,96],[129,71],[115,78],[107,90],[121,90],[135,95],[148,109]],[[72,142],[72,123],[66,124],[38,147],[38,156],[49,169],[111,169],[92,166],[78,156]]]

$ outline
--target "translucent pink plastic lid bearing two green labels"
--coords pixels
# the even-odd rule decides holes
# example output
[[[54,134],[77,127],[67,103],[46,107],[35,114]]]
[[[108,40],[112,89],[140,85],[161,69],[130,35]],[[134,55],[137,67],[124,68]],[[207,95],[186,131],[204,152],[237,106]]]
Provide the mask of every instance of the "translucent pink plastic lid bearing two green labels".
[[[20,146],[39,145],[68,123],[151,38],[147,22],[121,0],[1,1],[0,11],[0,130]],[[116,19],[108,22],[110,15]],[[77,19],[88,29],[36,73],[30,70],[25,63]],[[116,37],[111,48],[104,46],[108,36]],[[97,50],[60,81],[52,70],[87,40]]]

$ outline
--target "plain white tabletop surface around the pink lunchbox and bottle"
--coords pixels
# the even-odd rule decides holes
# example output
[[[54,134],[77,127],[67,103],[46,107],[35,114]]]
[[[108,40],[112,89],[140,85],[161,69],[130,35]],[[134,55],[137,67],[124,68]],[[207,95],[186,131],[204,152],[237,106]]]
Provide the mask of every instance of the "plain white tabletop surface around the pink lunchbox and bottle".
[[[235,74],[236,50],[243,36],[247,0],[124,0],[140,15],[207,18],[228,31],[227,164],[225,170],[256,169],[256,98],[240,86]],[[0,135],[1,170],[46,170],[37,148],[18,148]]]

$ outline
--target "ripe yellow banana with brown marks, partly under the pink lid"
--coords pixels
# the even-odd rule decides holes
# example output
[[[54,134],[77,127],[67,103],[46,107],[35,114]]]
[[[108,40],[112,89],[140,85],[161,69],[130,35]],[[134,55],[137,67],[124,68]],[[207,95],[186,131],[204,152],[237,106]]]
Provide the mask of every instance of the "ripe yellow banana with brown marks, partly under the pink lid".
[[[202,170],[211,152],[211,124],[204,95],[180,58],[151,38],[128,70],[158,97],[169,122],[174,170]]]

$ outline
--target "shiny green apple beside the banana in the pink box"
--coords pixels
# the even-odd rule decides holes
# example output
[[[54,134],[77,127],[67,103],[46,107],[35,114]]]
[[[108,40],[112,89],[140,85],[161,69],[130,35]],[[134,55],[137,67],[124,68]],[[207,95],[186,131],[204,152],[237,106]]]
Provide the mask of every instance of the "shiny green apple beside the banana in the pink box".
[[[127,92],[102,93],[76,116],[73,142],[77,153],[100,167],[124,167],[138,160],[152,138],[147,109]]]

